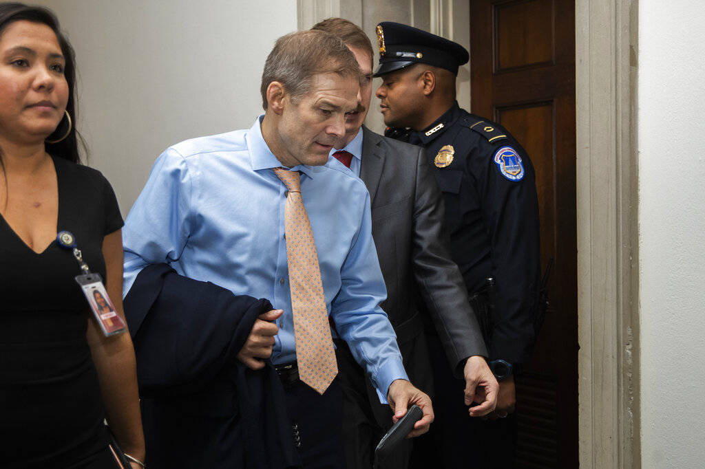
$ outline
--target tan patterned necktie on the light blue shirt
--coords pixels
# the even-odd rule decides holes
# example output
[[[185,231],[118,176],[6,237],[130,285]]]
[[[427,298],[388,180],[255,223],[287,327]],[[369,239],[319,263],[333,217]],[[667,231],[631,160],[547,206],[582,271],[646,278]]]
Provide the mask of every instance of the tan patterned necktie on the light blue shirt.
[[[283,168],[274,168],[274,173],[289,191],[284,207],[286,261],[299,377],[323,394],[338,374],[338,365],[333,351],[316,244],[301,198],[301,175],[298,171]]]

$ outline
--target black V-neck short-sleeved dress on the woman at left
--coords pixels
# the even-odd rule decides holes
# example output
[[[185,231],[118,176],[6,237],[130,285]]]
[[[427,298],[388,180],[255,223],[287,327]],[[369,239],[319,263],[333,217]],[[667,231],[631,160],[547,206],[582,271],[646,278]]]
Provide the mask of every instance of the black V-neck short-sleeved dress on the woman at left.
[[[57,231],[71,231],[92,272],[105,279],[103,237],[123,226],[101,173],[53,158]],[[0,466],[91,467],[106,451],[104,411],[86,340],[90,310],[70,251],[42,254],[0,216]],[[92,319],[91,319],[92,320]]]

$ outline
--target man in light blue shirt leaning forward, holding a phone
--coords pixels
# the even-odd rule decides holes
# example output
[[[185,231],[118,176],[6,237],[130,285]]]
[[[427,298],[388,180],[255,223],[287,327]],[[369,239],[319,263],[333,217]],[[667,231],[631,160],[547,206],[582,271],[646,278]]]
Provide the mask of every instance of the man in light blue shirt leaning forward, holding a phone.
[[[386,289],[370,231],[369,194],[347,169],[324,166],[345,135],[345,113],[355,108],[359,82],[355,57],[339,39],[323,32],[280,38],[264,67],[264,116],[249,130],[171,146],[154,163],[123,229],[123,294],[146,265],[169,263],[180,275],[269,299],[283,313],[263,315],[238,358],[255,369],[270,356],[281,368],[295,366],[287,194],[272,168],[300,171],[329,316],[396,418],[411,404],[422,407],[415,436],[427,431],[433,411],[429,397],[408,381],[379,307]],[[305,468],[344,467],[336,380],[323,395],[302,382],[286,393]],[[321,420],[328,425],[320,427]],[[329,441],[307,439],[307,425],[315,427],[315,439]]]

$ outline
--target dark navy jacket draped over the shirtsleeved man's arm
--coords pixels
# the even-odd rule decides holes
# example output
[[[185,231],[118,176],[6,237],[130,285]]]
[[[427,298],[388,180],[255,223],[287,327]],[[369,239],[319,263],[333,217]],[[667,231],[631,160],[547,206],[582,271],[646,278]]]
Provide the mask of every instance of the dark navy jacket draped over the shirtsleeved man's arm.
[[[276,370],[237,358],[269,301],[161,263],[137,275],[124,306],[151,468],[301,466]]]

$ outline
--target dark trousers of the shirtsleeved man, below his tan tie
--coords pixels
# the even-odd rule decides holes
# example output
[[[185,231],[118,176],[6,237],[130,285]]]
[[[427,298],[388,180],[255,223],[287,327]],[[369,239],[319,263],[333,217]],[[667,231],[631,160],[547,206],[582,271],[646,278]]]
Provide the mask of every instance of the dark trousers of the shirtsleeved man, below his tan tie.
[[[336,377],[324,394],[301,380],[284,382],[286,406],[304,469],[345,469],[343,394]]]

